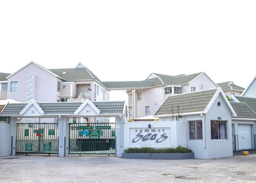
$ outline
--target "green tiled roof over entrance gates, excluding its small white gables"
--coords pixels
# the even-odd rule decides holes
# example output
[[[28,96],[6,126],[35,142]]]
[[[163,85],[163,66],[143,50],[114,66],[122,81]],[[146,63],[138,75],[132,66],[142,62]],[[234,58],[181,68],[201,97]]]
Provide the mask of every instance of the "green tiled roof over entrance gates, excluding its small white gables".
[[[92,103],[100,110],[100,114],[122,114],[124,111],[124,101]],[[27,104],[7,104],[0,115],[19,115]],[[72,115],[83,102],[36,102],[36,104],[44,111],[45,115]]]

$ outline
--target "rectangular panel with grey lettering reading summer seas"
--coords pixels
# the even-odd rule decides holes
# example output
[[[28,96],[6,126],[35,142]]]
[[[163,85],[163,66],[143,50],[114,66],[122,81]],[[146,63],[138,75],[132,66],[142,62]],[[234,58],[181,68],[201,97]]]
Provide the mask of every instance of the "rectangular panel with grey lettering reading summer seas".
[[[170,147],[170,128],[130,129],[131,147]]]

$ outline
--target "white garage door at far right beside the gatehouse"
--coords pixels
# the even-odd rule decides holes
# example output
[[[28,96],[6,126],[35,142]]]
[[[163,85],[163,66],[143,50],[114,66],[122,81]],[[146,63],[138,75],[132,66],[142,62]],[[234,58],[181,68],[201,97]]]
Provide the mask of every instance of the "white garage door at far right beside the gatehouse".
[[[237,125],[239,150],[252,148],[251,125]]]

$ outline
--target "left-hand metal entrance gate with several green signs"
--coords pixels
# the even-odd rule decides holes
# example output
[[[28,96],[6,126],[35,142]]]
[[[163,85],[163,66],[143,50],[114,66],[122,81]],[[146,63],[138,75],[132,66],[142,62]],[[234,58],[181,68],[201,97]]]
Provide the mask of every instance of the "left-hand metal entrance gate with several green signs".
[[[16,153],[58,154],[58,123],[17,123]]]

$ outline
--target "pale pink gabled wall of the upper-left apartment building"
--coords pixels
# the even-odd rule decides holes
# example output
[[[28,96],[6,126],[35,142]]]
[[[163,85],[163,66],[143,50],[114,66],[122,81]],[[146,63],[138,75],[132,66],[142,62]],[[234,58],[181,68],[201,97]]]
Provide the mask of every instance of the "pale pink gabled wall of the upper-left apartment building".
[[[7,99],[26,102],[26,79],[29,75],[35,76],[34,100],[38,102],[57,101],[57,78],[34,63],[30,63],[8,78]],[[12,81],[18,82],[17,92],[10,92]]]

